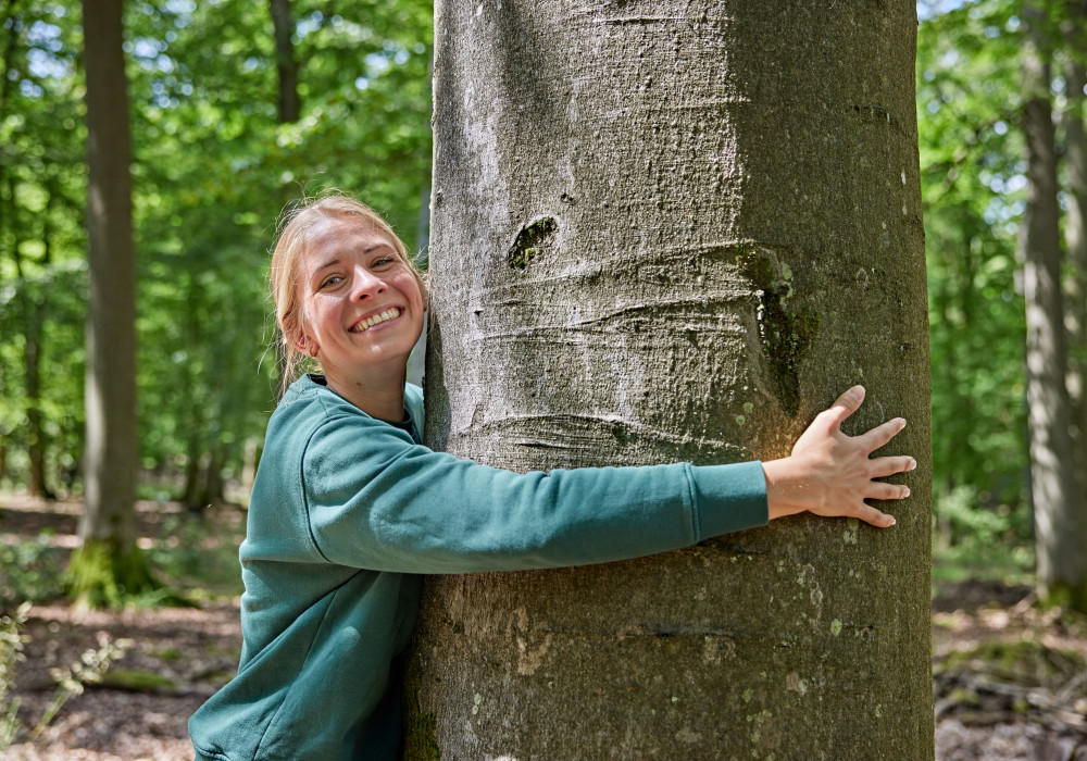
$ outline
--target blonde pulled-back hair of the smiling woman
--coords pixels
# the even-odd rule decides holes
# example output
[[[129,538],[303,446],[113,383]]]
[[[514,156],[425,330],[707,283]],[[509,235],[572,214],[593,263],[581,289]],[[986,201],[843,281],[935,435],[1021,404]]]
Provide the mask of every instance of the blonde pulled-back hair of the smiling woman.
[[[298,298],[298,270],[299,262],[310,246],[313,230],[318,223],[329,219],[359,222],[388,237],[389,242],[415,276],[424,299],[426,298],[426,286],[414,260],[408,253],[408,247],[389,223],[365,203],[336,194],[303,198],[288,207],[279,217],[277,225],[279,235],[272,252],[272,265],[268,272],[276,326],[279,328],[277,355],[280,358],[283,383],[280,394],[287,390],[310,361],[310,358],[298,349],[305,330],[305,314]]]

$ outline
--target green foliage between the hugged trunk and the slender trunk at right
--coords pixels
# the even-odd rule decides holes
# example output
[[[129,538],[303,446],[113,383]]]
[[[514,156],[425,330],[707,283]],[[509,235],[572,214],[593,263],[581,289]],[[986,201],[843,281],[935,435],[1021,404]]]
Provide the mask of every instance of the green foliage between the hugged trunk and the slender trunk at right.
[[[957,542],[974,531],[991,538],[994,516],[1026,503],[1016,9],[1010,0],[969,3],[919,33],[934,487],[939,509],[954,516]],[[1010,526],[1020,538],[1029,531],[1025,521]]]

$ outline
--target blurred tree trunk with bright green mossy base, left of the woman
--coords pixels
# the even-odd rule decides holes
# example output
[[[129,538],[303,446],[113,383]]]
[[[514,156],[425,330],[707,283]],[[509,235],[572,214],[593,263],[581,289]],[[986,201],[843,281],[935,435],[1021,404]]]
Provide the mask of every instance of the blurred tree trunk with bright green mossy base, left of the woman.
[[[88,275],[86,508],[72,594],[115,603],[150,586],[136,548],[136,262],[123,0],[84,0]]]

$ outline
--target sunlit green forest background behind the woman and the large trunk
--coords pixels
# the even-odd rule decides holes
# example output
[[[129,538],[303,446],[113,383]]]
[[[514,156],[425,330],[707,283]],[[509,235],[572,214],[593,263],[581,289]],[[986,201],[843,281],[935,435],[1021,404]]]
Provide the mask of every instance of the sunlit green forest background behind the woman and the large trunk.
[[[49,684],[21,688],[4,664],[0,750],[22,743],[20,758],[47,758],[18,733],[53,695],[48,670],[33,665],[43,652],[35,648],[55,633],[50,621],[98,622],[80,624],[89,641],[60,648],[77,659],[95,647],[95,631],[110,628],[93,616],[111,614],[95,608],[138,619],[182,602],[217,621],[236,615],[237,542],[280,385],[267,290],[280,210],[349,191],[426,265],[435,9],[425,0],[130,0],[122,87],[104,87],[127,97],[122,108],[98,107],[96,123],[91,90],[102,86],[88,82],[84,14],[105,12],[74,0],[0,2],[0,613],[4,632],[13,622],[27,627],[30,681]],[[916,10],[932,384],[932,451],[919,460],[932,473],[937,723],[954,719],[964,737],[973,711],[977,726],[1033,727],[1005,738],[1003,751],[985,740],[991,758],[1021,758],[1012,746],[1026,748],[1022,758],[1039,747],[1087,758],[1087,2],[938,0]],[[98,151],[97,170],[89,151]],[[130,244],[107,238],[95,260],[96,173],[124,165]],[[101,288],[124,279],[111,257],[126,246],[130,362],[123,352],[95,354],[98,328],[88,322],[96,310],[107,323],[124,319],[110,312],[113,297],[92,304],[91,294],[96,277]],[[110,324],[95,334],[99,349],[113,344]],[[96,431],[101,386],[115,386],[110,392],[132,409],[136,450],[120,507],[107,496],[93,512],[85,498],[109,492],[114,452],[127,457],[123,446],[88,451],[102,437],[113,446],[111,428]],[[127,527],[111,534],[116,525]],[[103,538],[104,560],[86,551]],[[142,570],[126,577],[133,557]],[[65,595],[91,610],[72,612]],[[29,620],[25,601],[35,604]],[[53,619],[35,619],[41,607]],[[1011,623],[989,626],[998,612]],[[201,624],[171,615],[183,617],[166,626],[174,634],[159,651],[183,652],[215,676],[201,683],[174,666],[174,687],[147,691],[176,697],[178,684],[202,684],[186,694],[191,701],[228,678],[237,652],[174,641]],[[118,631],[138,629],[134,621]],[[948,649],[964,621],[1015,636],[976,652]],[[1057,635],[1061,645],[1047,639]],[[11,641],[0,660],[23,649]],[[117,653],[98,647],[108,681]],[[142,671],[113,672],[162,672],[162,659],[128,660]],[[79,682],[67,683],[72,706],[83,699]],[[4,724],[3,700],[21,689],[22,712],[16,703]],[[75,720],[63,716],[60,728],[38,733],[55,747],[75,741]],[[163,734],[184,732],[184,718],[182,729]],[[976,748],[955,754],[955,741],[980,741],[963,737],[944,751],[938,737],[937,756],[983,758],[969,754]],[[165,747],[140,746],[128,758],[173,758],[175,746]]]

